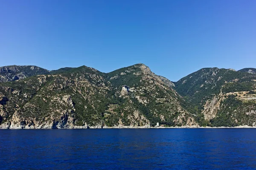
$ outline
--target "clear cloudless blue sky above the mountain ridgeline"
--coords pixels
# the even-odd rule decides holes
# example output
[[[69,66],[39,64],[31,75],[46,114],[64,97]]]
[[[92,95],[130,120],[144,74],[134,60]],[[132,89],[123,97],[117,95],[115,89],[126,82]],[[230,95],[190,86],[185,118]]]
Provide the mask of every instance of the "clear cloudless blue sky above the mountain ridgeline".
[[[172,81],[256,68],[256,0],[0,0],[0,66],[136,63]]]

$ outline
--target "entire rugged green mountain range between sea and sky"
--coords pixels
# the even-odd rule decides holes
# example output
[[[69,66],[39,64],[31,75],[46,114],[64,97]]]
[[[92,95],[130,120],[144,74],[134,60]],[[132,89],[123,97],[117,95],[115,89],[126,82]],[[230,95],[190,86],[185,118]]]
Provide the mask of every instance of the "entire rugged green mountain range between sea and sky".
[[[246,70],[202,68],[172,82],[142,63],[109,73],[16,67],[25,70],[0,82],[0,128],[256,125],[256,74]]]

